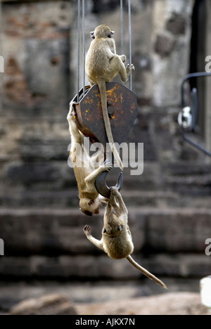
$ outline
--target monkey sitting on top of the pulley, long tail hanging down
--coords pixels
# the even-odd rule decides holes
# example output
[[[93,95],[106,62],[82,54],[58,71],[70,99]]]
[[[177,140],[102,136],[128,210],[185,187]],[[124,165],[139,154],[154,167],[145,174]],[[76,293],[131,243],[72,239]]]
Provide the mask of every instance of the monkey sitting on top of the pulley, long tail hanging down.
[[[124,62],[126,61],[126,56],[117,55],[115,41],[112,39],[114,32],[110,30],[110,27],[100,25],[90,34],[94,40],[91,41],[86,56],[85,71],[90,86],[98,84],[101,94],[103,120],[110,148],[112,149],[117,164],[123,171],[123,164],[117,152],[117,148],[114,145],[113,134],[110,129],[110,120],[107,110],[106,82],[110,82],[116,75],[120,75],[122,82],[126,82],[132,70],[134,70],[134,65],[128,64],[125,68]]]

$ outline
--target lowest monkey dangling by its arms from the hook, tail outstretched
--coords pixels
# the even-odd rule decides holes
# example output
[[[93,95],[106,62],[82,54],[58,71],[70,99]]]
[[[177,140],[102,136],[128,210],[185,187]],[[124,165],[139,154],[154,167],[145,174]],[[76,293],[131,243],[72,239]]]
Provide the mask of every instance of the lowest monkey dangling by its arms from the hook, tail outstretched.
[[[162,281],[156,278],[156,276],[153,276],[153,274],[141,267],[130,256],[134,250],[134,245],[132,243],[132,235],[129,231],[129,226],[127,225],[127,217],[128,212],[124,205],[124,201],[122,200],[122,195],[116,187],[113,187],[111,188],[110,200],[108,201],[104,215],[104,226],[101,240],[97,240],[91,236],[91,228],[89,226],[84,227],[84,233],[91,243],[106,252],[110,258],[127,258],[136,269],[141,271],[141,273],[162,288],[167,289],[165,283],[162,283]]]

